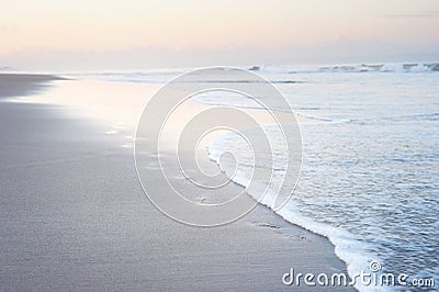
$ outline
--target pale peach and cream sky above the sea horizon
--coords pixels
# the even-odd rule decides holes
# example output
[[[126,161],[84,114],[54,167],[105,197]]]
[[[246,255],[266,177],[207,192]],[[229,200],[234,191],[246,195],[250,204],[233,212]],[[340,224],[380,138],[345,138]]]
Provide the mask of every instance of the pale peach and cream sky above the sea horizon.
[[[0,1],[0,67],[439,60],[438,0]]]

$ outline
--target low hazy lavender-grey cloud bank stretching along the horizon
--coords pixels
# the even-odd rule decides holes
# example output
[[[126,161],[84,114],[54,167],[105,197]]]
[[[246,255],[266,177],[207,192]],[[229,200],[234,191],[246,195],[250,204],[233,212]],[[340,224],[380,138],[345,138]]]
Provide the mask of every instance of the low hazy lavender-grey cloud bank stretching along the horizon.
[[[127,50],[22,50],[0,55],[1,66],[23,70],[143,70],[147,68],[214,65],[295,65],[376,61],[435,61],[439,43],[405,44],[383,40],[349,38],[295,47],[237,46],[230,48],[184,48],[170,50],[137,47]]]

